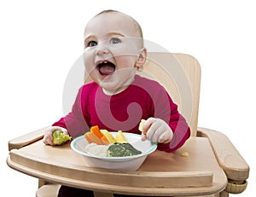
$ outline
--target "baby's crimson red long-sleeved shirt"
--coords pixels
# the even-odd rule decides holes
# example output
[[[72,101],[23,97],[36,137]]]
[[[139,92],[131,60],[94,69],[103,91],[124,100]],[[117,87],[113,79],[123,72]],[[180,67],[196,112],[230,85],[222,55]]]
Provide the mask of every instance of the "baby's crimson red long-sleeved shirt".
[[[172,152],[190,136],[189,125],[164,87],[138,75],[127,89],[113,96],[104,94],[95,82],[84,84],[72,112],[53,125],[66,128],[71,136],[83,135],[92,125],[141,134],[138,130],[140,120],[149,117],[165,120],[174,133],[170,143],[158,145],[160,150]]]

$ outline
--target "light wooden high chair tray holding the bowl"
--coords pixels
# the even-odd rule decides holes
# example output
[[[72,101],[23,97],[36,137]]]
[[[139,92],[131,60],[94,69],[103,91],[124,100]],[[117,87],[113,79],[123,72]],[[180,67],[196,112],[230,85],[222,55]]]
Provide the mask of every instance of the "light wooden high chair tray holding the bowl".
[[[189,156],[183,157],[183,152]],[[215,194],[227,184],[205,137],[190,137],[175,153],[155,151],[131,172],[91,168],[70,144],[52,147],[42,140],[11,150],[7,163],[52,183],[119,194]]]

